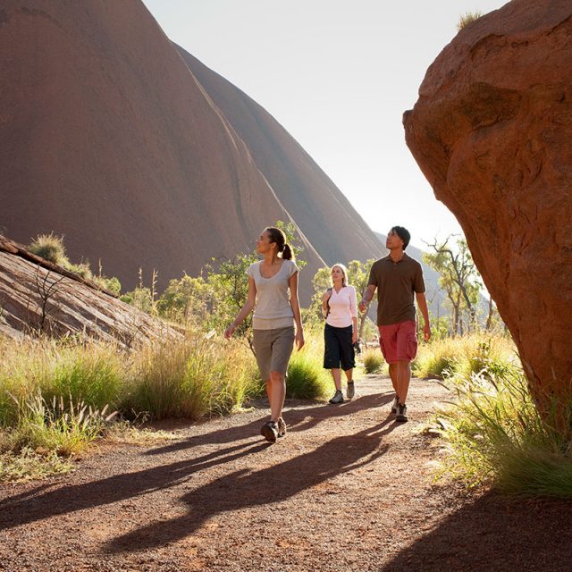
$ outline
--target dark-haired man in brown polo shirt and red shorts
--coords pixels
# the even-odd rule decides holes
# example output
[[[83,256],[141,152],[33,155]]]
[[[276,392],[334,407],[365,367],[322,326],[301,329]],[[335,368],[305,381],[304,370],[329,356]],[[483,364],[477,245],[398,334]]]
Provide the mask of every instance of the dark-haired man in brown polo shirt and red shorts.
[[[359,303],[359,309],[364,312],[377,289],[379,342],[383,357],[390,365],[395,390],[391,413],[397,414],[396,421],[408,421],[405,403],[411,381],[411,360],[417,352],[414,298],[423,315],[425,340],[431,336],[423,270],[416,260],[405,254],[410,238],[408,230],[402,226],[394,226],[389,231],[385,247],[390,253],[372,265],[366,291]]]

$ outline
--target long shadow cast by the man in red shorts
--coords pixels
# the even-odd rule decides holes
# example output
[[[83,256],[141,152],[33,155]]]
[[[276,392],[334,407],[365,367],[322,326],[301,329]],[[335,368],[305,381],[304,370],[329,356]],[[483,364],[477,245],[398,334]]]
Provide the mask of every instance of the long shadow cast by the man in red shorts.
[[[143,526],[108,543],[106,549],[123,552],[164,546],[192,534],[214,515],[286,501],[316,484],[380,458],[388,448],[382,444],[383,436],[396,425],[387,419],[273,467],[225,475],[182,497],[189,505],[187,514]]]

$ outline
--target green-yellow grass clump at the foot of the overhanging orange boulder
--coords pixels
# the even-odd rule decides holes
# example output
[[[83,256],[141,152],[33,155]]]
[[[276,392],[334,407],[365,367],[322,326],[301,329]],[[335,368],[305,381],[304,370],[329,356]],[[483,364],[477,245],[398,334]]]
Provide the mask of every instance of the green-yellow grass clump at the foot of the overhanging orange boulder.
[[[559,433],[554,427],[561,425],[539,415],[522,370],[484,370],[450,387],[457,400],[436,417],[447,449],[440,475],[511,494],[572,499],[570,432]],[[572,421],[572,403],[568,415]]]

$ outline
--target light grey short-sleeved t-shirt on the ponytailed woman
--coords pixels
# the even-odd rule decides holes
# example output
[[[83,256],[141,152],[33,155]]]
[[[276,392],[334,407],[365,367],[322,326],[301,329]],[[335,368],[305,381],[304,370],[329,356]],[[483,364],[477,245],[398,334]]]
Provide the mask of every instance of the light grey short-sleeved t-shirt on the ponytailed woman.
[[[260,273],[263,261],[248,266],[247,274],[257,286],[257,306],[252,325],[255,330],[273,330],[294,325],[294,312],[290,306],[290,277],[299,271],[292,260],[284,260],[272,278]]]

